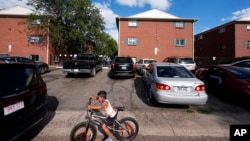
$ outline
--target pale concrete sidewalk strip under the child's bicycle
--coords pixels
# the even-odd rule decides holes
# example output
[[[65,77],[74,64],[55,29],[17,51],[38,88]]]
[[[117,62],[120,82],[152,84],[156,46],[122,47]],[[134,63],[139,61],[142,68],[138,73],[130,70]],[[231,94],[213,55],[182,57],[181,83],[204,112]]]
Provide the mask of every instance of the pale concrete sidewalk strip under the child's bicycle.
[[[151,113],[122,112],[123,116],[136,117],[139,123],[139,134],[134,141],[228,141],[229,125],[218,121],[218,118],[211,115],[196,115],[193,120],[185,117],[170,117],[165,119],[161,125],[152,125],[144,122],[143,116],[150,116]],[[74,125],[84,121],[84,112],[78,111],[57,111],[52,121],[33,139],[33,141],[68,141],[69,133]],[[167,115],[166,115],[167,116]],[[165,117],[165,115],[164,115]],[[180,120],[182,118],[182,120]],[[179,121],[179,122],[176,122]],[[102,135],[98,132],[96,141],[101,141]]]

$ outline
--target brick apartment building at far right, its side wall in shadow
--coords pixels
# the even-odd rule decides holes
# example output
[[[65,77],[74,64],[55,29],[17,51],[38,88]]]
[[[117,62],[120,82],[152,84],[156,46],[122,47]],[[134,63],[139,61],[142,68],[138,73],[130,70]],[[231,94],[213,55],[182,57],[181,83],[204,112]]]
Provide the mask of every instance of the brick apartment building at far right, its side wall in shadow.
[[[200,66],[250,56],[250,17],[196,34],[194,46],[195,61]]]

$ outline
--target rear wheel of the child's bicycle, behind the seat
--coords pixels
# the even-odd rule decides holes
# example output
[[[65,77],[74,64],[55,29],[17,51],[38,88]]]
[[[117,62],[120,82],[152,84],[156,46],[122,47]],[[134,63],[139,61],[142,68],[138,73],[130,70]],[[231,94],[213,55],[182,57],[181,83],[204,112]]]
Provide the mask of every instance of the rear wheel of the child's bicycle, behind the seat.
[[[116,130],[118,130],[115,136],[120,141],[131,141],[137,136],[139,132],[139,125],[134,118],[125,117],[119,120],[119,123],[120,125],[115,125]]]

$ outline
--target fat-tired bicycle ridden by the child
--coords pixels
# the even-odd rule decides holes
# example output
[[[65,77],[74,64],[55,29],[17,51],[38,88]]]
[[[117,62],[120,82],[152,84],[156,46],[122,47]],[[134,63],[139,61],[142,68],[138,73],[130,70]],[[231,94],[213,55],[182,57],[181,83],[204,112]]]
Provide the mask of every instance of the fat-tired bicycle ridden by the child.
[[[91,105],[91,98],[88,104]],[[114,107],[117,110],[115,121],[108,129],[113,133],[116,139],[120,141],[132,141],[139,132],[139,125],[132,117],[124,117],[120,120],[117,119],[118,113],[124,111],[125,107]],[[102,131],[101,125],[103,124],[106,116],[99,114],[96,111],[88,110],[86,112],[86,121],[80,122],[75,125],[70,132],[70,141],[94,141],[97,137],[98,130]]]

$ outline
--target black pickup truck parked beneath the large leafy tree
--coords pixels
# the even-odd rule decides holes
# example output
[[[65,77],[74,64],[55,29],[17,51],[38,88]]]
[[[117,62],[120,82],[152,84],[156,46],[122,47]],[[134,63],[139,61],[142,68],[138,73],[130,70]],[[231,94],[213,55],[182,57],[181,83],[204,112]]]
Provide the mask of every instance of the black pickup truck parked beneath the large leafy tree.
[[[103,61],[97,54],[78,54],[73,60],[63,62],[63,73],[72,74],[88,73],[94,77],[96,72],[102,70]]]

